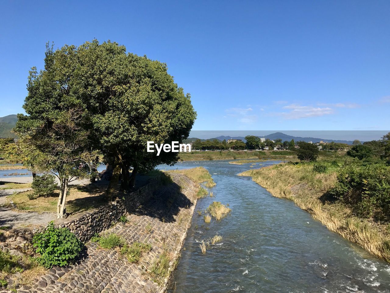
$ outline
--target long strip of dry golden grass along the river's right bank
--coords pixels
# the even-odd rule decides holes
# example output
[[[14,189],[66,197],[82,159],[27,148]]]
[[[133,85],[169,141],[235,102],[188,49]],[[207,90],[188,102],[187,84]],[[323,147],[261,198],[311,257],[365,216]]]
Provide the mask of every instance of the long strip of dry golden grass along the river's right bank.
[[[339,202],[321,202],[320,197],[337,181],[335,170],[318,174],[312,172],[311,164],[280,164],[248,170],[239,175],[251,176],[275,197],[293,200],[329,230],[390,262],[390,233],[385,227],[357,218],[349,207]]]

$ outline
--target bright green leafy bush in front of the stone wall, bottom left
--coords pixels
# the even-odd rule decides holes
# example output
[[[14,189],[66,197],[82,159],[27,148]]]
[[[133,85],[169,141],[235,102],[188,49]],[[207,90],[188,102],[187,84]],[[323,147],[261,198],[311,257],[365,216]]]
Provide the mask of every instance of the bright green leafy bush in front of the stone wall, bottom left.
[[[68,229],[55,228],[53,221],[45,232],[34,235],[32,243],[40,254],[38,262],[45,268],[73,263],[82,250],[81,241]]]

